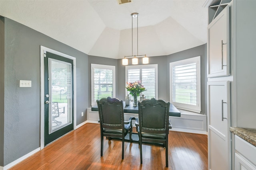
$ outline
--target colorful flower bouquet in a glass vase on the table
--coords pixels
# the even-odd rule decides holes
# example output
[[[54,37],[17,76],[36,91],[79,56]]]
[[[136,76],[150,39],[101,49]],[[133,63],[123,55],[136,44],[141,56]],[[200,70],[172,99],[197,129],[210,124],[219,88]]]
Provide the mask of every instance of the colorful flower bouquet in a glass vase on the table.
[[[140,96],[141,92],[146,91],[144,86],[141,84],[140,80],[135,81],[135,82],[126,82],[126,90],[130,92],[130,95],[133,96],[134,98],[134,104],[133,106],[137,106],[137,97]]]

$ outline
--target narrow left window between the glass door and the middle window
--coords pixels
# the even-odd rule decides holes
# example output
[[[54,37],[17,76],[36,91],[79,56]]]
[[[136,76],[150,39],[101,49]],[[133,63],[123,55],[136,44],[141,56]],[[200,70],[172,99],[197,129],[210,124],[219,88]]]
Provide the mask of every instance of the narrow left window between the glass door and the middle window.
[[[92,105],[101,98],[115,98],[115,66],[91,64],[92,70]]]

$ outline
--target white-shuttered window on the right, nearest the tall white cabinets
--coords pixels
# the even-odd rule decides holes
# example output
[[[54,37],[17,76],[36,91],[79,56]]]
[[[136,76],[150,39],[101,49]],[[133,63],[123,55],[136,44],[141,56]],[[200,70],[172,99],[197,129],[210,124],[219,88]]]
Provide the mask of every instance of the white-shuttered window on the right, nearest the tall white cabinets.
[[[200,56],[170,63],[170,102],[200,113]]]

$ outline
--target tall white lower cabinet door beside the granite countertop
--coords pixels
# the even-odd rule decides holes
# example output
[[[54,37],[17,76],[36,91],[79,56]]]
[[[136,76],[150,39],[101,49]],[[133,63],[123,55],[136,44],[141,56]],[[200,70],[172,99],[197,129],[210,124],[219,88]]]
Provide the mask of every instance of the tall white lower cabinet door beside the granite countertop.
[[[231,169],[230,82],[208,82],[208,169]]]

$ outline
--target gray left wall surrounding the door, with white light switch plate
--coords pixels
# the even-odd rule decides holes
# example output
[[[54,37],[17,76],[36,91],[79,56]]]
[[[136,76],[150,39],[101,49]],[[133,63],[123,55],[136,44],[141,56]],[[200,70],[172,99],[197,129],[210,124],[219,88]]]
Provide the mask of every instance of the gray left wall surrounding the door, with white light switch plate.
[[[40,45],[76,57],[77,124],[86,120],[81,112],[88,107],[88,55],[16,21],[1,17],[1,22],[0,166],[6,166],[40,147]],[[32,87],[19,88],[19,80],[31,80]]]

